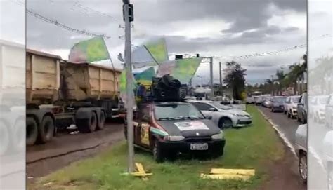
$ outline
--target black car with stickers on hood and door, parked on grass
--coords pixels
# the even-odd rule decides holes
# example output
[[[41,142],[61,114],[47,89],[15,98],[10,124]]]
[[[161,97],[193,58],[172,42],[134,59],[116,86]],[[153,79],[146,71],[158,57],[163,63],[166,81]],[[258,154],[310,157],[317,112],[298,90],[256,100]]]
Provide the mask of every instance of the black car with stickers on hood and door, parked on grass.
[[[148,102],[134,114],[134,144],[157,162],[195,152],[222,156],[225,142],[218,126],[188,102]]]

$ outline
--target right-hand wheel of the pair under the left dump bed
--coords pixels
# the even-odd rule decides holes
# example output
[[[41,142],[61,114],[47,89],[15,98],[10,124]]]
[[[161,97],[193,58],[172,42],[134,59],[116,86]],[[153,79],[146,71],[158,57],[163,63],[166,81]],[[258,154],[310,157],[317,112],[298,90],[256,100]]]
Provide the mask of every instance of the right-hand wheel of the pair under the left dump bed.
[[[44,116],[39,126],[39,139],[40,143],[46,143],[52,140],[54,134],[54,122],[51,116]]]

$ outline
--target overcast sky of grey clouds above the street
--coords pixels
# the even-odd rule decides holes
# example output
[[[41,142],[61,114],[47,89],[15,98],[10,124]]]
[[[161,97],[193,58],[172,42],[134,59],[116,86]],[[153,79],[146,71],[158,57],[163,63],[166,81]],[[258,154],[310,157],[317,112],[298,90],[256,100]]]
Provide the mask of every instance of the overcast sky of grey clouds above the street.
[[[27,8],[70,27],[111,36],[112,38],[106,43],[111,54],[117,55],[119,51],[122,51],[121,47],[124,44],[123,40],[118,39],[118,36],[124,35],[124,29],[119,28],[119,24],[124,24],[122,1],[81,0],[79,2],[80,4],[74,4],[74,1],[27,0]],[[236,55],[246,55],[263,49],[279,50],[306,41],[306,34],[301,33],[296,27],[283,25],[283,23],[277,26],[268,25],[267,21],[273,16],[273,13],[266,11],[270,4],[274,4],[282,10],[290,9],[297,13],[304,13],[305,17],[305,0],[132,0],[132,3],[135,14],[133,43],[165,36],[169,53],[224,55],[237,50]],[[110,16],[103,15],[102,12]],[[194,20],[195,22],[192,22]],[[221,36],[198,35],[189,38],[187,34],[171,35],[172,32],[181,29],[182,25],[179,23],[195,23],[195,27],[197,27],[197,20],[223,20],[223,22],[229,23],[230,27],[222,30]],[[187,27],[191,27],[191,25],[187,25]],[[226,28],[226,26],[220,28]],[[254,30],[249,31],[249,29]],[[155,31],[159,31],[158,34],[155,34]],[[240,32],[242,32],[241,35],[234,35],[240,34]],[[68,32],[27,15],[28,48],[68,50],[74,43],[83,39],[89,39],[89,36]],[[295,56],[298,59],[299,54],[301,52],[283,55],[285,56],[282,56],[283,58],[275,57],[274,60],[266,60],[265,63],[257,61],[244,62],[244,64],[273,64],[276,60],[281,59],[291,62]],[[112,58],[117,60],[116,57]],[[273,72],[272,67],[266,67],[266,69],[261,67],[262,70],[265,70],[267,74]],[[259,75],[260,73],[249,68],[247,79],[263,77]]]

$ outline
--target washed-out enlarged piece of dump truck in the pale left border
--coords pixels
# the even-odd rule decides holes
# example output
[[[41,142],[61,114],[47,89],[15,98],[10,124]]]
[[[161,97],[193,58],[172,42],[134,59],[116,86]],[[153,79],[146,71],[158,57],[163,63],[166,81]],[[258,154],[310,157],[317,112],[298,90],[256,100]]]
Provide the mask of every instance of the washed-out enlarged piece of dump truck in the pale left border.
[[[0,40],[0,161],[25,152],[24,76],[25,46]]]

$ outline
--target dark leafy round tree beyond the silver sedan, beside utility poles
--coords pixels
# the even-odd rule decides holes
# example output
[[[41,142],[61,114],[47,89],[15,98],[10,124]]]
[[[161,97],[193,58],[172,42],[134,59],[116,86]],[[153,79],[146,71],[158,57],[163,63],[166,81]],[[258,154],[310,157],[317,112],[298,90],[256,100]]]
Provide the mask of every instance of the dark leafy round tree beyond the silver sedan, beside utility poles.
[[[226,62],[226,78],[223,80],[227,84],[228,88],[233,89],[233,98],[235,100],[241,100],[241,93],[245,89],[245,72],[247,69],[243,69],[242,65],[235,61]]]

